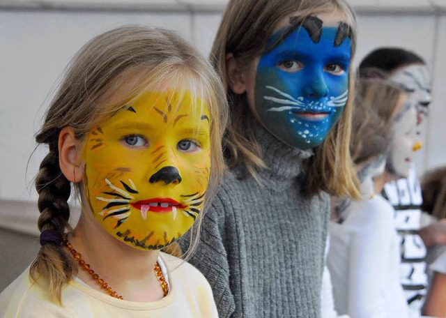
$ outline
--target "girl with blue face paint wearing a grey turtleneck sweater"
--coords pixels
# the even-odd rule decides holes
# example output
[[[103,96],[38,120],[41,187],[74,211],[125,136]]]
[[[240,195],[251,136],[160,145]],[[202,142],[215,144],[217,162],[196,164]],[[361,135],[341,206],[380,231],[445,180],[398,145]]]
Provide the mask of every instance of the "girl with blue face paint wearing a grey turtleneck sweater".
[[[231,108],[230,169],[190,260],[220,317],[320,317],[329,194],[359,197],[354,51],[342,0],[229,1],[211,61]]]

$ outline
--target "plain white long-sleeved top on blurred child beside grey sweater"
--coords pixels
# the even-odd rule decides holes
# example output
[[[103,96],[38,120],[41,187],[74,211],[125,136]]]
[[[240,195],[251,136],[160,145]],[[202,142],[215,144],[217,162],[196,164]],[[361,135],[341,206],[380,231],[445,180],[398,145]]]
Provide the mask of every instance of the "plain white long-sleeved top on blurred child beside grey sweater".
[[[353,318],[408,317],[399,284],[394,209],[380,195],[351,202],[344,222],[330,222],[327,265],[335,308]]]

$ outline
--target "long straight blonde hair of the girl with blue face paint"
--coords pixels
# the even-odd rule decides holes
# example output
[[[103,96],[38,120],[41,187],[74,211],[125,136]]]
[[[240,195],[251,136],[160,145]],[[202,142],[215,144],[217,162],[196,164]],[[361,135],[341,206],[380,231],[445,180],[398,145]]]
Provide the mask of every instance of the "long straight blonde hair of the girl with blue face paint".
[[[254,134],[255,119],[245,94],[229,89],[226,75],[226,54],[232,53],[241,69],[252,67],[263,53],[272,31],[284,17],[295,13],[302,18],[318,13],[334,12],[344,16],[351,31],[351,56],[355,53],[356,19],[343,0],[232,0],[217,31],[210,60],[220,73],[229,100],[231,122],[224,135],[226,155],[231,167],[245,165],[251,176],[263,167],[259,143]],[[293,25],[289,33],[295,29]],[[289,34],[288,33],[288,34]],[[286,36],[286,33],[284,34]],[[316,146],[307,162],[305,192],[315,195],[326,191],[331,195],[358,198],[359,190],[348,144],[351,133],[353,68],[349,69],[349,96],[344,112],[325,141]]]

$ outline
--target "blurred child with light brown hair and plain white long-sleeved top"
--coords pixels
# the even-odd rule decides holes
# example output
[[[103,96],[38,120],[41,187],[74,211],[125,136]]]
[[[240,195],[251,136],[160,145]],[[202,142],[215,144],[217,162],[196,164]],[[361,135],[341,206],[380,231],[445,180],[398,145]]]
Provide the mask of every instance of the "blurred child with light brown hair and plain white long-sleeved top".
[[[394,209],[379,195],[380,191],[375,192],[373,181],[384,172],[390,138],[396,138],[392,134],[395,123],[407,115],[413,120],[413,130],[416,128],[415,108],[406,109],[406,100],[401,89],[380,79],[360,79],[358,84],[350,149],[362,198],[341,201],[335,209],[336,218],[329,225],[327,264],[339,314],[408,317],[399,284]]]

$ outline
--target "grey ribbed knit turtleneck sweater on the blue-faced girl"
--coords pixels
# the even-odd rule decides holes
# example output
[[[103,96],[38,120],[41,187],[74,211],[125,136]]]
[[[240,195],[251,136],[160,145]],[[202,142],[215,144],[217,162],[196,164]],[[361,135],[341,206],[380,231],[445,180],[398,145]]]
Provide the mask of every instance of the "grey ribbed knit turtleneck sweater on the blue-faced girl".
[[[302,159],[312,151],[262,128],[258,137],[269,167],[259,173],[263,185],[240,181],[243,168],[225,176],[190,263],[210,282],[220,317],[320,317],[328,195],[300,195]]]

